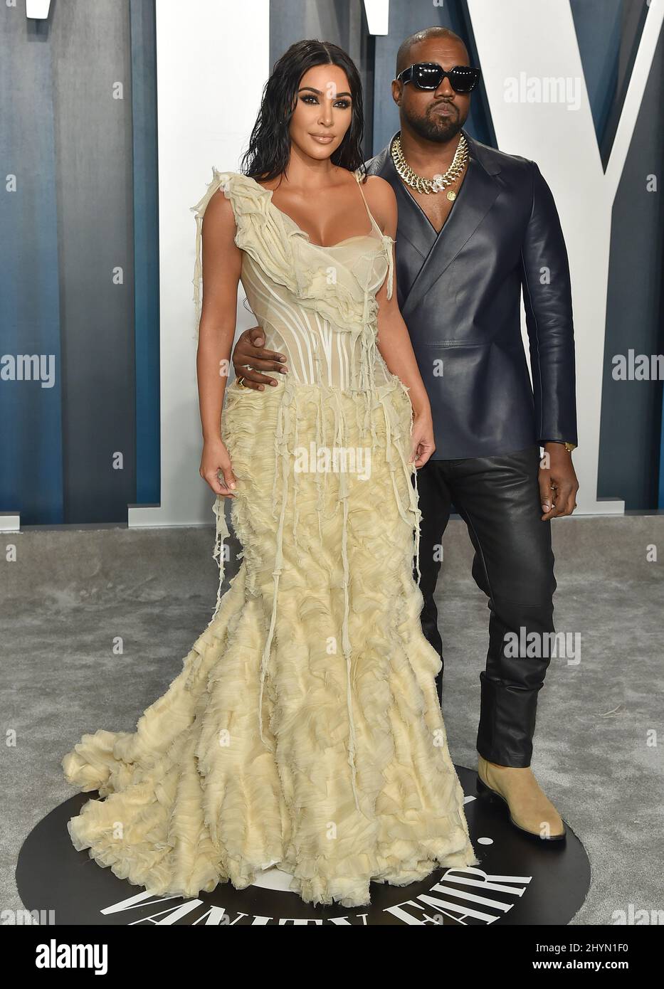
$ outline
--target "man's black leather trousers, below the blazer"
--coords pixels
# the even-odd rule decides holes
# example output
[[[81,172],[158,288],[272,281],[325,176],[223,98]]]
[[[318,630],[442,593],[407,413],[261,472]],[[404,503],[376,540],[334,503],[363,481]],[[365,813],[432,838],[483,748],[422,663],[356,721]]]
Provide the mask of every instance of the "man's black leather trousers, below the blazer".
[[[505,641],[508,632],[520,636],[522,629],[520,641],[530,632],[554,631],[551,523],[540,518],[538,468],[537,445],[498,457],[429,460],[418,471],[423,630],[442,659],[433,591],[453,503],[468,526],[475,547],[473,578],[487,594],[491,612],[486,670],[480,673],[477,751],[499,765],[530,764],[537,692],[550,662],[545,649],[538,659],[526,657],[521,648],[511,657],[514,649]],[[442,669],[436,686],[442,699]]]

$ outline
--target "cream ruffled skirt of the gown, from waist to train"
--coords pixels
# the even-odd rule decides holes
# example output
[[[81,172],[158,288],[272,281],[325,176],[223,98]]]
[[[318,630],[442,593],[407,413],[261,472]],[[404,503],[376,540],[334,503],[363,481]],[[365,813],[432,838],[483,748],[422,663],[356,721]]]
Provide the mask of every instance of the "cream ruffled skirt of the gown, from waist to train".
[[[357,399],[334,391],[230,387],[237,576],[136,732],[84,735],[62,760],[105,798],[69,821],[74,846],[151,893],[241,889],[276,863],[305,901],[355,907],[371,880],[478,864],[403,511],[410,401],[376,397],[366,480],[296,473],[317,429],[365,441]]]

